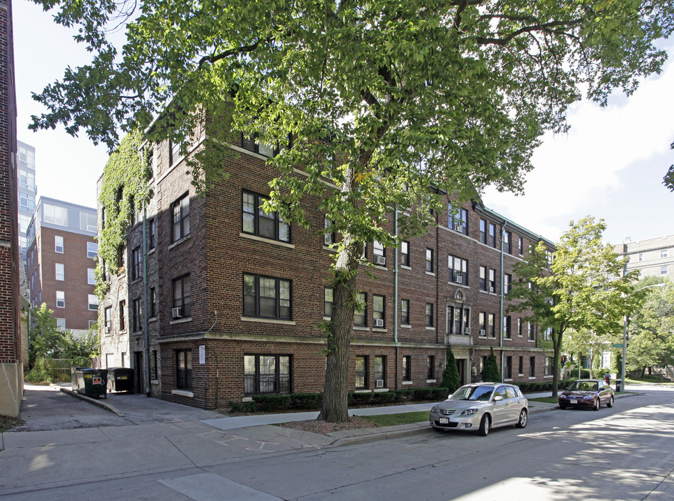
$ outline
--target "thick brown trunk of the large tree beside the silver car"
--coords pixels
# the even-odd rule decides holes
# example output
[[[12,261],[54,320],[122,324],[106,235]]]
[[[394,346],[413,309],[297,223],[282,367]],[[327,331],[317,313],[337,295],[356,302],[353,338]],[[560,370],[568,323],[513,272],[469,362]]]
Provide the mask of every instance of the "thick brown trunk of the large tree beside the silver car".
[[[325,387],[323,404],[318,420],[347,422],[349,345],[354,321],[352,294],[356,291],[356,271],[363,244],[358,244],[350,234],[345,234],[344,248],[340,251],[333,283],[333,309],[327,339]]]

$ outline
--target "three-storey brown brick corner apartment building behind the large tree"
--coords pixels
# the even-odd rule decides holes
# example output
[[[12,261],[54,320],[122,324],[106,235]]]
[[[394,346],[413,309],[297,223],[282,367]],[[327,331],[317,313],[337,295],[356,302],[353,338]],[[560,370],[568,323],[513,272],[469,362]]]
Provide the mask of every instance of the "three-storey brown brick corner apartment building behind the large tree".
[[[104,263],[103,367],[130,363],[136,391],[202,408],[324,384],[317,324],[331,313],[334,237],[316,234],[318,200],[303,202],[311,230],[260,212],[275,173],[254,143],[232,148],[230,178],[200,197],[177,149],[155,146],[145,216],[128,229],[120,262]],[[437,228],[398,249],[366,248],[376,280],[359,273],[366,308],[354,319],[350,390],[437,385],[450,345],[462,383],[480,380],[490,347],[506,380],[551,378],[535,326],[505,316],[502,301],[513,265],[541,237],[480,202],[455,221],[435,217]]]

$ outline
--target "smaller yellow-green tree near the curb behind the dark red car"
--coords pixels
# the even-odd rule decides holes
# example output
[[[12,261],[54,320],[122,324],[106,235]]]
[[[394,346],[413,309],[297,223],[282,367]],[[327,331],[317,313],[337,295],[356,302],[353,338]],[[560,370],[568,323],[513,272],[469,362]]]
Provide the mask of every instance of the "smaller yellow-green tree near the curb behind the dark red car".
[[[634,272],[623,276],[625,259],[602,244],[604,221],[586,217],[561,236],[554,257],[542,241],[531,246],[526,260],[515,264],[520,279],[512,284],[508,311],[530,312],[540,331],[551,329],[552,395],[557,396],[559,355],[565,333],[593,331],[603,337],[622,331],[627,294]],[[519,300],[519,301],[517,301]]]

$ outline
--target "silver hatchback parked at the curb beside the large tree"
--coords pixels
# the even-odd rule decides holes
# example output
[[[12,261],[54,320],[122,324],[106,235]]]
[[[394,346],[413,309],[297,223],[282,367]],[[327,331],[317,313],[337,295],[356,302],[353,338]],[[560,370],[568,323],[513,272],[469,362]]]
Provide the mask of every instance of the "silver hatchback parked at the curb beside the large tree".
[[[528,402],[515,385],[476,383],[464,385],[428,415],[436,430],[469,430],[487,436],[496,427],[526,427]]]

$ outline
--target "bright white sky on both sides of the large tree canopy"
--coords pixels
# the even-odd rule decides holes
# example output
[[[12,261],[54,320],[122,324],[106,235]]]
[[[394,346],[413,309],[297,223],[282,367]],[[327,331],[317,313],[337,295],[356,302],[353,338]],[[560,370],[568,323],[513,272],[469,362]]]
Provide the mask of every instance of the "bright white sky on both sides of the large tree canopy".
[[[96,206],[96,182],[107,148],[63,128],[32,132],[31,115],[45,111],[31,99],[63,77],[68,65],[90,61],[72,31],[25,0],[13,2],[17,138],[36,148],[38,196]],[[45,43],[48,40],[48,43]],[[487,189],[489,209],[535,234],[557,241],[570,221],[606,221],[605,241],[619,244],[674,234],[674,193],[662,184],[674,163],[674,40],[664,42],[671,61],[641,82],[634,95],[616,93],[606,108],[580,102],[570,109],[568,134],[544,136],[526,176],[524,195]]]

